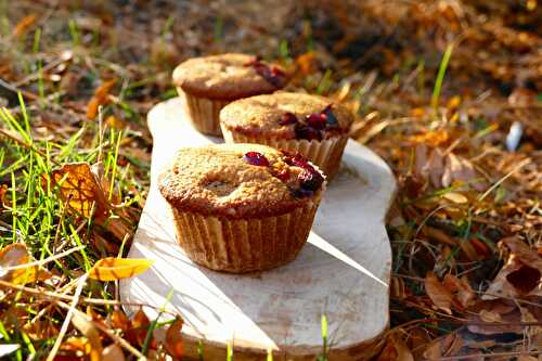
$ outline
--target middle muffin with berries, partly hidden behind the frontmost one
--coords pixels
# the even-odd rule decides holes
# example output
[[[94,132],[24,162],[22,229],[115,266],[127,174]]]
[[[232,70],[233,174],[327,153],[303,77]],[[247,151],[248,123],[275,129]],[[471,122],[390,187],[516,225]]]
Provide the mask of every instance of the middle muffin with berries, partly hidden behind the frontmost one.
[[[242,99],[220,112],[227,143],[298,152],[327,179],[338,171],[352,120],[348,109],[326,98],[289,92]]]

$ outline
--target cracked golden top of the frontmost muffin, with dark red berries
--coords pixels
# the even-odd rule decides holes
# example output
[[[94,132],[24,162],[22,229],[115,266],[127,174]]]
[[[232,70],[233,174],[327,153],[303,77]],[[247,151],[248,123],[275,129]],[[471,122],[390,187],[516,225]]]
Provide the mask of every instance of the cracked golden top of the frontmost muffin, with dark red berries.
[[[259,144],[181,149],[158,178],[175,208],[204,216],[261,218],[302,207],[325,188],[300,155]]]

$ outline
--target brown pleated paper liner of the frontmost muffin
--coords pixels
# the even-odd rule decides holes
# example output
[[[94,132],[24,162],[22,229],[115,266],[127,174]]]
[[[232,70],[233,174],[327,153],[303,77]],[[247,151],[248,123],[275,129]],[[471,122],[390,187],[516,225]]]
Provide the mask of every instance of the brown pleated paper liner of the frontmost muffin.
[[[211,270],[275,268],[296,258],[307,242],[324,188],[312,202],[278,217],[228,219],[171,207],[177,241],[190,259]]]

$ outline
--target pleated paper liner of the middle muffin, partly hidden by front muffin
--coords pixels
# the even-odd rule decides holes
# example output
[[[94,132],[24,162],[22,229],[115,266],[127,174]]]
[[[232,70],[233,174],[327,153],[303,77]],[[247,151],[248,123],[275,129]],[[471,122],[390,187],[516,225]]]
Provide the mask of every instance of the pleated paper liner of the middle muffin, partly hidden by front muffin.
[[[324,139],[322,141],[308,141],[306,139],[276,140],[258,137],[248,137],[222,127],[222,134],[227,143],[258,143],[278,150],[299,152],[310,162],[322,169],[327,180],[333,179],[339,170],[340,158],[345,151],[348,136]]]

